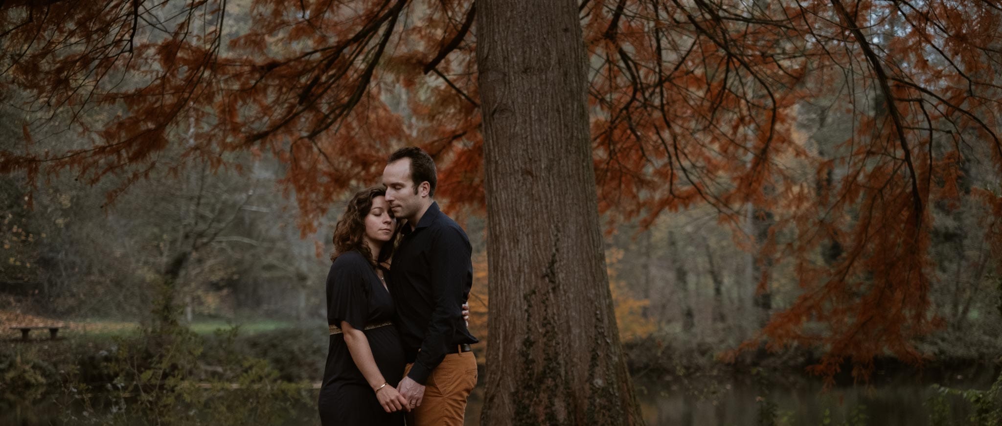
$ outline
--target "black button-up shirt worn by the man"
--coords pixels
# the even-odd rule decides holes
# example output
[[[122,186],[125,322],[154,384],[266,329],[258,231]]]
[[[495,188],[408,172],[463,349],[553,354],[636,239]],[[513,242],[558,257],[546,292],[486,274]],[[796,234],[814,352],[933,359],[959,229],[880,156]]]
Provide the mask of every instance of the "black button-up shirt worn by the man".
[[[463,229],[438,202],[413,230],[409,224],[402,227],[404,237],[390,269],[391,292],[404,354],[414,363],[407,376],[424,385],[446,354],[478,342],[462,315],[473,285],[472,248]]]

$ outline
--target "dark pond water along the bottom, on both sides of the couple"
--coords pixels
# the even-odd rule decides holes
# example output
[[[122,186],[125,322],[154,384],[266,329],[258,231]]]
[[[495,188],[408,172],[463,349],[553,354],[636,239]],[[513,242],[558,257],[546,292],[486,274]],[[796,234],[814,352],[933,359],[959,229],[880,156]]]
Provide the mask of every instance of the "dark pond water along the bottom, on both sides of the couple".
[[[870,386],[843,386],[825,390],[816,379],[796,379],[790,384],[773,384],[768,388],[757,385],[755,380],[713,378],[701,381],[684,379],[634,380],[638,390],[643,417],[648,425],[758,425],[760,416],[768,414],[780,425],[908,425],[931,424],[933,404],[930,398],[938,395],[929,384],[943,383],[959,389],[987,389],[997,372],[993,368],[939,377],[899,375],[896,378],[877,377]],[[316,424],[315,401],[317,391],[285,407],[289,414],[281,421],[268,424]],[[238,393],[232,401],[221,406],[238,407]],[[9,395],[7,397],[10,397]],[[220,396],[217,398],[229,398]],[[965,419],[970,408],[959,397],[942,399],[949,410],[948,424],[969,424]],[[483,404],[483,390],[478,388],[470,398],[466,424],[479,425]],[[133,406],[134,407],[134,406]],[[67,419],[66,406],[53,401],[34,402],[29,405],[0,403],[0,425],[36,426],[71,425],[77,421]],[[941,408],[942,410],[943,408]],[[139,414],[139,413],[136,413]],[[82,419],[81,419],[82,420]],[[90,419],[96,420],[96,419]],[[273,419],[274,420],[274,419]],[[101,424],[101,422],[88,422]],[[116,424],[145,424],[144,421],[119,421]],[[227,422],[228,423],[228,422]]]

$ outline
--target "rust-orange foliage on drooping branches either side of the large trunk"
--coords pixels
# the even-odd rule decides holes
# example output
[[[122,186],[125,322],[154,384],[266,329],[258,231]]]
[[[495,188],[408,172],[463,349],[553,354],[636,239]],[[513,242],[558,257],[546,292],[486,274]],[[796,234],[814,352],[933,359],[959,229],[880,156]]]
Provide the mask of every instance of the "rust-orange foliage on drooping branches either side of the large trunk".
[[[970,156],[1002,168],[1000,11],[581,0],[600,210],[649,224],[704,202],[737,233],[744,209],[770,211],[760,264],[794,263],[803,293],[761,338],[824,348],[826,375],[846,358],[864,375],[885,353],[918,362],[913,338],[937,325],[929,205],[960,196]],[[0,172],[127,185],[180,166],[158,162],[167,148],[214,167],[271,152],[307,233],[347,187],[375,181],[391,148],[420,144],[443,165],[442,196],[482,207],[475,13],[470,0],[0,3],[0,93],[33,117]],[[827,155],[794,137],[799,102],[823,98],[854,130]],[[37,137],[47,114],[82,140]],[[998,190],[972,188],[994,209],[995,248]],[[843,252],[819,262],[832,242]]]

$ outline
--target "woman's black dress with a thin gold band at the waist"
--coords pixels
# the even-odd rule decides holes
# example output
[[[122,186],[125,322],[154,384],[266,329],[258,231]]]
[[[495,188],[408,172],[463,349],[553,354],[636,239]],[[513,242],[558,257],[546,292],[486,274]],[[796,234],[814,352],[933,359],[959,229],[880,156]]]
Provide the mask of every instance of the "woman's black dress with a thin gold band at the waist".
[[[393,320],[394,306],[369,262],[358,252],[341,255],[327,276],[327,322],[342,321],[364,330]],[[396,387],[404,376],[404,350],[397,328],[388,325],[364,330],[383,378]],[[324,426],[402,426],[403,412],[387,413],[348,352],[343,334],[331,335],[320,390],[320,419]]]

